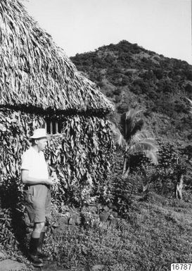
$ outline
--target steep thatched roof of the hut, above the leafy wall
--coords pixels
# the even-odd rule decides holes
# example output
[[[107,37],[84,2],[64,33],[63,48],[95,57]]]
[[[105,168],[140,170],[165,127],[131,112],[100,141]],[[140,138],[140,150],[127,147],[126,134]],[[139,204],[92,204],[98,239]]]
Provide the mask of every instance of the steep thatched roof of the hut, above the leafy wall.
[[[18,0],[0,0],[0,61],[0,106],[97,113],[113,108]]]

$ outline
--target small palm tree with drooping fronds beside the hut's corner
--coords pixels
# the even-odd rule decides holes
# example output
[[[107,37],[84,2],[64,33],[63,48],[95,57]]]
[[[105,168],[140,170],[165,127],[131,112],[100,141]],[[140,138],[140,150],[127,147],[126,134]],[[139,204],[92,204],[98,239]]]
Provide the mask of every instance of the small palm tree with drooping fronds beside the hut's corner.
[[[145,153],[152,163],[157,164],[157,151],[155,139],[151,134],[143,129],[142,119],[136,120],[136,116],[141,111],[131,109],[123,113],[120,120],[120,129],[117,125],[112,125],[112,131],[115,142],[122,147],[124,151],[124,163],[122,175],[127,177],[129,174],[129,160],[134,153]]]

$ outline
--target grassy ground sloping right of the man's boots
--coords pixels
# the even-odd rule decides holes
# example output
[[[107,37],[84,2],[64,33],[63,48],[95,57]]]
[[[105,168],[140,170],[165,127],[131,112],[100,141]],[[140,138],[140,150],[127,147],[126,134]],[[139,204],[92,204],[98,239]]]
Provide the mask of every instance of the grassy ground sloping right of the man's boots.
[[[134,202],[122,231],[103,224],[69,227],[63,234],[49,234],[46,251],[69,270],[103,265],[107,271],[164,271],[171,263],[192,262],[192,204],[152,199]]]

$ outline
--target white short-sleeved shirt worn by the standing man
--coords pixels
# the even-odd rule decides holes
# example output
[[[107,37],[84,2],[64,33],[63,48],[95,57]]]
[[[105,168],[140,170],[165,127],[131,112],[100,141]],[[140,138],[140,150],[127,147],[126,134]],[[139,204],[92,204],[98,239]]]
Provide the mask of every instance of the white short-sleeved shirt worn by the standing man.
[[[30,147],[22,156],[22,170],[29,170],[29,177],[48,179],[49,173],[42,151],[36,151]]]

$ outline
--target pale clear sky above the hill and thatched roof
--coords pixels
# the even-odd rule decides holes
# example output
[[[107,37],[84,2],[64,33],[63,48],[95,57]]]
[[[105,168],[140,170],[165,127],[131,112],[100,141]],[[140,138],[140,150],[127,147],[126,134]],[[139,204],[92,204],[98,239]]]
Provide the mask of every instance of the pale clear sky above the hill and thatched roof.
[[[121,40],[192,64],[192,0],[23,0],[68,56]]]

